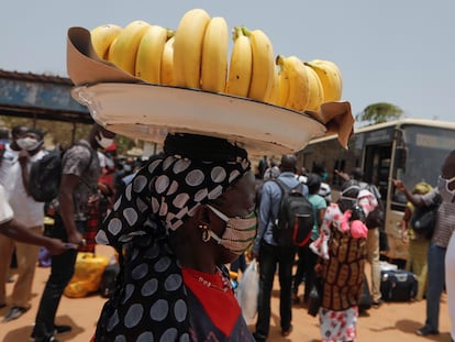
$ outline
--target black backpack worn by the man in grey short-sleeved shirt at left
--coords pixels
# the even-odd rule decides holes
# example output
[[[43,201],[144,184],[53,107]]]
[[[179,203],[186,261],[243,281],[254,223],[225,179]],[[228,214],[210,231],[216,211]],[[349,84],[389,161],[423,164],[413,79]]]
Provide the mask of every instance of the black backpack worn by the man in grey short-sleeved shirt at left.
[[[84,143],[75,143],[74,145],[85,146]],[[29,175],[29,191],[33,199],[37,202],[49,202],[58,195],[62,180],[62,161],[64,152],[59,147],[55,147],[41,159],[33,162]],[[90,151],[90,167],[92,153]]]

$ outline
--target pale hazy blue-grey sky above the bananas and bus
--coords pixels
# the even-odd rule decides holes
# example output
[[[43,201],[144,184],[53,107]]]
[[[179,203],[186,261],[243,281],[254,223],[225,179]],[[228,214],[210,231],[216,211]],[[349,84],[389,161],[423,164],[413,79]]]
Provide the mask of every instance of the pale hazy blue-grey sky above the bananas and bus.
[[[144,20],[176,29],[189,9],[230,27],[263,30],[275,54],[331,59],[343,74],[353,114],[376,102],[406,117],[455,121],[454,0],[2,0],[0,69],[67,77],[70,26]]]

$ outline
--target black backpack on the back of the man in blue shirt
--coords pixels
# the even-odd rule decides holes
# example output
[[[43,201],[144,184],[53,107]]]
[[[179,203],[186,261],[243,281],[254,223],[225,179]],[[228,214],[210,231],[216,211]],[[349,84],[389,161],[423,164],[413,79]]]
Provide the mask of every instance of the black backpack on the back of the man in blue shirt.
[[[313,206],[303,195],[303,184],[289,188],[273,179],[281,189],[278,216],[273,225],[273,236],[280,246],[304,246],[310,242],[314,225]]]

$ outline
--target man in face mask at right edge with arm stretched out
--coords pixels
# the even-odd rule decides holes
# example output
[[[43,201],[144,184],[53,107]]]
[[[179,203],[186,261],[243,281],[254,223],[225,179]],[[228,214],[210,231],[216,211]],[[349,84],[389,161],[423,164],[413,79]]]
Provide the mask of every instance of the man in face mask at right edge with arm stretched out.
[[[414,206],[430,206],[441,202],[428,254],[426,320],[425,324],[417,330],[418,335],[439,334],[440,300],[446,275],[450,276],[445,273],[447,265],[444,261],[455,228],[455,151],[448,154],[442,165],[437,187],[425,195],[411,194],[401,180],[392,179],[392,181],[397,189],[403,191]],[[453,288],[448,284],[452,283],[447,282],[447,293],[451,299],[455,294],[451,291]],[[454,319],[455,308],[451,304],[452,300],[450,300],[450,309],[452,319]],[[454,339],[454,334],[452,334],[452,339]]]

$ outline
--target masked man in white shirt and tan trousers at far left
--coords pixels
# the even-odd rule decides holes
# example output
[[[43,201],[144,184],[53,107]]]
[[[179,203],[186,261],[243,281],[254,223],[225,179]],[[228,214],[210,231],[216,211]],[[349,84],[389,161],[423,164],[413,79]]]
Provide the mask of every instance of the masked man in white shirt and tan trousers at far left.
[[[14,219],[35,234],[44,229],[44,203],[36,202],[29,195],[29,170],[31,164],[42,158],[44,134],[40,130],[15,126],[12,129],[12,143],[7,145],[1,163],[1,184],[9,197]],[[5,282],[11,257],[15,249],[18,257],[18,279],[11,295],[11,309],[4,317],[8,322],[21,317],[31,307],[32,285],[40,246],[16,242],[0,235],[0,306],[5,305]]]

